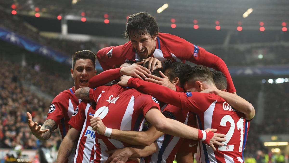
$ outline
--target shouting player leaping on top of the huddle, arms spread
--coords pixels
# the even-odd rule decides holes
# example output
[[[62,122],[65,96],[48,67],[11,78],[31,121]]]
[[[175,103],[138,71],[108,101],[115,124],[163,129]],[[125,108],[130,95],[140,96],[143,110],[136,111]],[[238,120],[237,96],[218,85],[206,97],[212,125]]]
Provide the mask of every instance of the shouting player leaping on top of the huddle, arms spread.
[[[163,66],[172,62],[190,61],[223,72],[228,81],[228,92],[236,92],[229,70],[221,58],[180,37],[160,33],[155,18],[148,13],[130,15],[125,35],[129,39],[127,43],[97,52],[103,70],[115,68],[126,60],[140,61],[148,57],[159,59]],[[149,70],[153,71],[154,67],[152,64]]]

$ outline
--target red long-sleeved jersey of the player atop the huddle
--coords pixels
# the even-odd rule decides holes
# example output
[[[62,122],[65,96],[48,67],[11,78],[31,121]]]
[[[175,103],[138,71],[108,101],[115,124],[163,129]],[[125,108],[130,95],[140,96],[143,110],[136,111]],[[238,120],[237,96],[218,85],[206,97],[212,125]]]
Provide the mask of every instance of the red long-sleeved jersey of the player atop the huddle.
[[[163,66],[166,63],[190,61],[219,70],[227,78],[227,91],[236,92],[229,70],[220,57],[178,36],[159,33],[156,39],[156,49],[149,57],[159,59],[162,61]],[[97,52],[97,59],[103,70],[108,70],[114,68],[114,65],[125,63],[126,60],[139,61],[140,57],[129,41],[120,46],[110,46],[99,50]]]

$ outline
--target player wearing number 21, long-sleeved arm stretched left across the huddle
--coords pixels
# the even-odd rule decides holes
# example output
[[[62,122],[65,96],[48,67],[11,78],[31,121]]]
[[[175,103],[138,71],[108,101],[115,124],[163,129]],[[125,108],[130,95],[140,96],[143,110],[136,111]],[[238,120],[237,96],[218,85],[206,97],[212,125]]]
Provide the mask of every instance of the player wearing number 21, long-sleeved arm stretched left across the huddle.
[[[252,119],[255,115],[253,106],[241,97],[231,94],[227,101],[218,95],[200,93],[206,89],[216,89],[212,72],[205,66],[194,66],[184,77],[186,93],[175,92],[155,83],[145,82],[136,78],[123,77],[119,84],[132,86],[143,92],[154,95],[160,101],[187,109],[198,115],[199,129],[216,128],[218,133],[226,133],[225,146],[215,146],[216,151],[200,142],[201,162],[244,162],[242,158],[244,149],[245,119]],[[221,91],[223,93],[227,93]],[[241,109],[237,112],[232,108]],[[202,132],[202,131],[200,131]]]

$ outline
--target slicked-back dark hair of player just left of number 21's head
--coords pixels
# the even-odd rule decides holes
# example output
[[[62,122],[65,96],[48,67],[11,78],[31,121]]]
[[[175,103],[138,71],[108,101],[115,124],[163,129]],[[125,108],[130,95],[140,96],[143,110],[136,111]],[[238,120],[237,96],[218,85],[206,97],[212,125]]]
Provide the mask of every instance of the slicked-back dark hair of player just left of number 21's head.
[[[185,76],[186,72],[190,70],[190,68],[192,68],[190,65],[184,64],[182,62],[166,64],[166,70],[168,70],[168,74],[170,75],[170,81],[178,77],[181,83],[181,87],[184,87],[183,77]]]

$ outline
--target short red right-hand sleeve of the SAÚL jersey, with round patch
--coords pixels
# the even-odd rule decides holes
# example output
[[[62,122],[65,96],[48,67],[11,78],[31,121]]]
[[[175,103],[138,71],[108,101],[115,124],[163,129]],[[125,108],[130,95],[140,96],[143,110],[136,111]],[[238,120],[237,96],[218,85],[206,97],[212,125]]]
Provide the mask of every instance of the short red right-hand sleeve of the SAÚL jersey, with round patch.
[[[142,114],[147,114],[147,111],[151,108],[157,108],[160,110],[160,105],[158,100],[155,97],[152,97],[151,95],[141,94],[138,95],[134,102],[134,108],[142,108]]]

